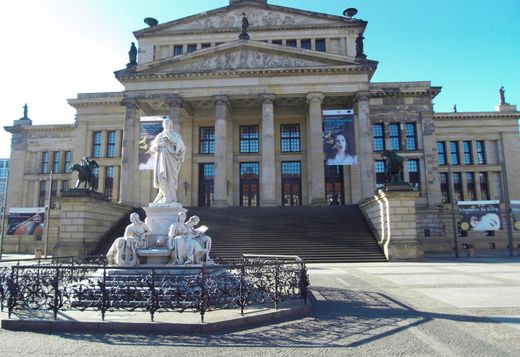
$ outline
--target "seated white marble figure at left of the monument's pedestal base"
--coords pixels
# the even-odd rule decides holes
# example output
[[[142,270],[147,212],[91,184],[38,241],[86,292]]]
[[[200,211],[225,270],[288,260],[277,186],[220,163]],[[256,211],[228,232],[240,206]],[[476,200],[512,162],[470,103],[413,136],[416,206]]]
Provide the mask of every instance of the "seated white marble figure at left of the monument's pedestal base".
[[[147,247],[146,237],[152,233],[150,228],[139,219],[137,213],[130,215],[130,222],[124,236],[117,238],[108,250],[110,265],[136,266],[139,264],[136,250]]]

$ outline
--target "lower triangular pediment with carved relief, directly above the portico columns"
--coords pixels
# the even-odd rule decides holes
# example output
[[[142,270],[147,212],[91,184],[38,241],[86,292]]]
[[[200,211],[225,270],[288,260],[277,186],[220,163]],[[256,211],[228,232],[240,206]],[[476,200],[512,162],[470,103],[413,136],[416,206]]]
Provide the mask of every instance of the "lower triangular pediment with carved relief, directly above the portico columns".
[[[358,66],[348,57],[256,41],[226,43],[139,66],[134,74],[202,73],[235,70]]]

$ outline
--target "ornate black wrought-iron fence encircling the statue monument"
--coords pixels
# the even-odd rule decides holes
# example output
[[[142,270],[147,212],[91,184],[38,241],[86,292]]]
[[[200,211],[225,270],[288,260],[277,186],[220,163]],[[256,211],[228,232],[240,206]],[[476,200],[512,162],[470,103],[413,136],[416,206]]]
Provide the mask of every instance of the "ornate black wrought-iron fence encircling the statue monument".
[[[203,267],[108,266],[100,257],[0,266],[2,310],[198,312],[303,299],[305,263],[292,256],[244,256]]]

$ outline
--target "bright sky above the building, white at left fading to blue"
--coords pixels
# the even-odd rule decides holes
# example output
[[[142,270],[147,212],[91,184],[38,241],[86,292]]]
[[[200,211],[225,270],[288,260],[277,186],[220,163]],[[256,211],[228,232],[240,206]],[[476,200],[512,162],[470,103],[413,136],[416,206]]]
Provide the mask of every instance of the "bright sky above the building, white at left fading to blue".
[[[379,61],[374,82],[431,81],[442,86],[437,112],[493,111],[498,89],[520,108],[520,1],[268,0],[368,21],[365,53]],[[29,105],[34,125],[72,123],[66,99],[121,91],[113,72],[128,62],[133,31],[145,17],[160,23],[228,5],[228,0],[3,0],[0,13],[0,124]],[[0,133],[0,157],[10,134]]]

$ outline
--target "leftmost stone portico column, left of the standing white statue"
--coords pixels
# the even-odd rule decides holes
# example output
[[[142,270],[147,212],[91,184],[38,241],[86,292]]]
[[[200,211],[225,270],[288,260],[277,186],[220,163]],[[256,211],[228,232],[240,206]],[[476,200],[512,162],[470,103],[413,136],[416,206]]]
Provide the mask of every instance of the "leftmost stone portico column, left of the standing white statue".
[[[134,99],[125,99],[121,102],[126,107],[125,125],[123,130],[123,145],[121,148],[121,182],[119,202],[133,204],[135,162],[137,161],[136,130],[137,102]]]

